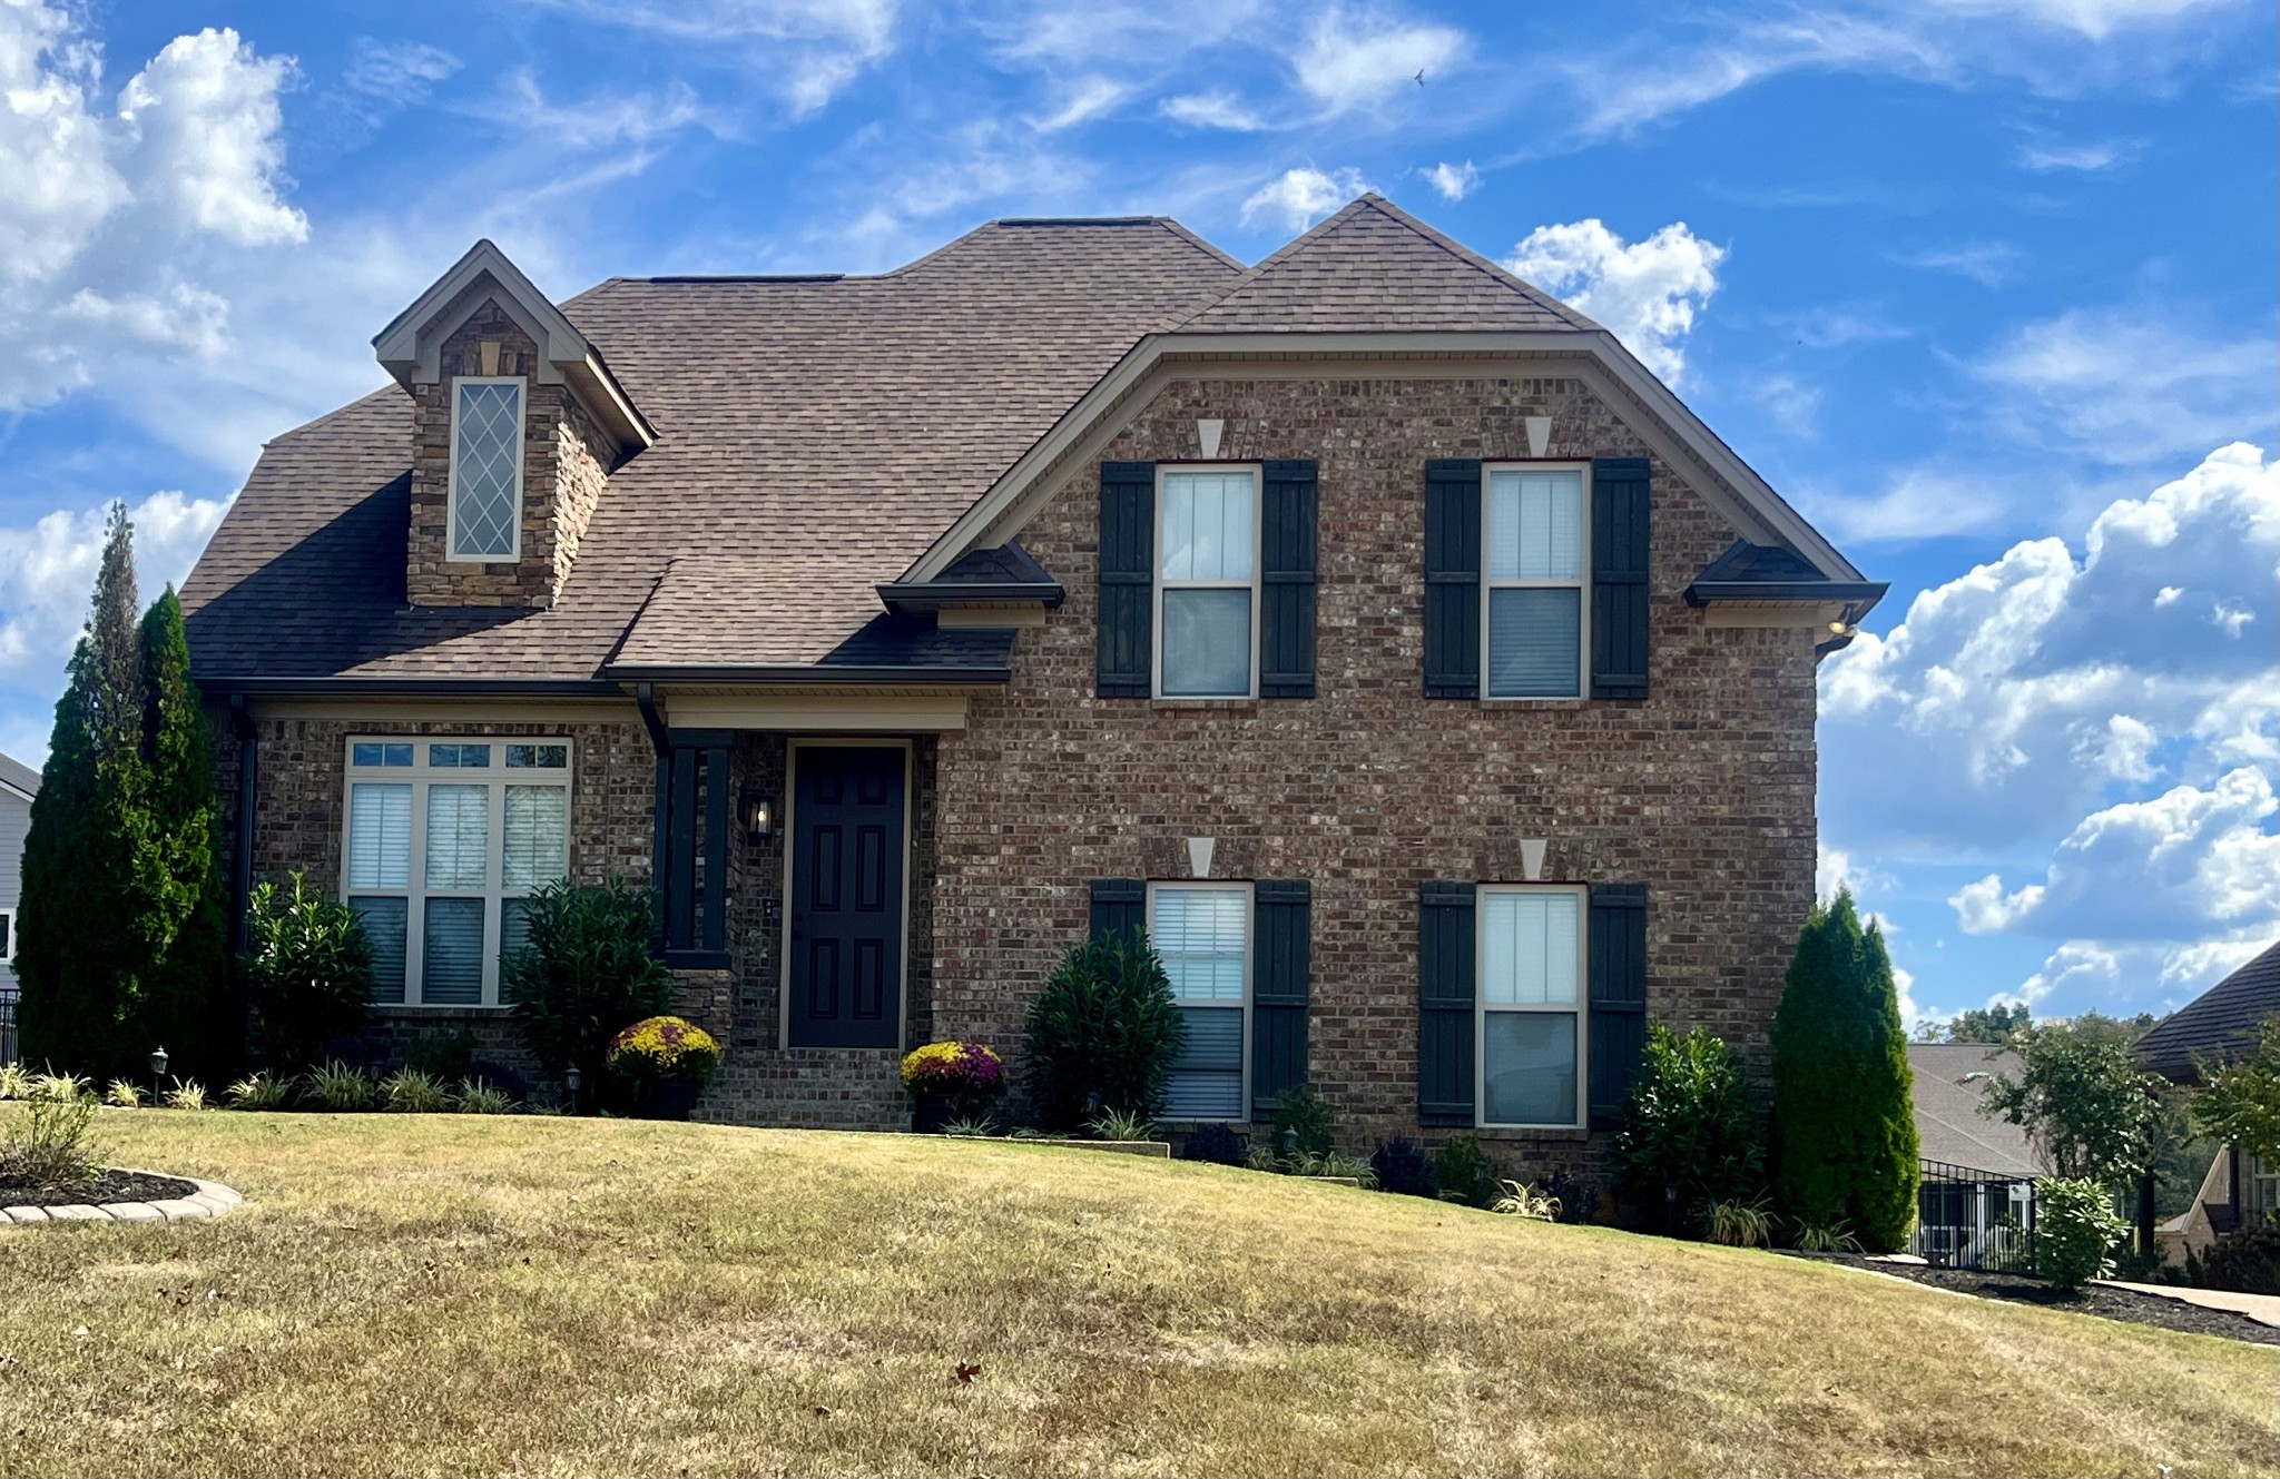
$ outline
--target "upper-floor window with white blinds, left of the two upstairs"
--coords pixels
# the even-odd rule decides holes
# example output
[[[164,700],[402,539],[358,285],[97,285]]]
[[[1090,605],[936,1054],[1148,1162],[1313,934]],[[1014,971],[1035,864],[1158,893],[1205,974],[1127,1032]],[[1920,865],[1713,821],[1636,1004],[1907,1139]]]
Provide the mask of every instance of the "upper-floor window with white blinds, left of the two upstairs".
[[[1156,693],[1259,693],[1259,469],[1165,467],[1156,488]]]

